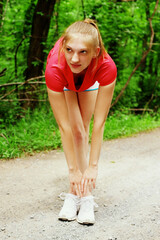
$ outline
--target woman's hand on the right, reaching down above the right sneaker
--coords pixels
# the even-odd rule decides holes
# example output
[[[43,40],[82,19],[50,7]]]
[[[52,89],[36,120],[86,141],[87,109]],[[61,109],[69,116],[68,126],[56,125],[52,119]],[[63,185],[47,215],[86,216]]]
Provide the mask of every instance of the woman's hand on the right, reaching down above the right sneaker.
[[[89,166],[85,170],[81,180],[81,192],[84,196],[86,195],[88,189],[91,192],[92,189],[95,188],[97,174],[98,174],[97,166]]]

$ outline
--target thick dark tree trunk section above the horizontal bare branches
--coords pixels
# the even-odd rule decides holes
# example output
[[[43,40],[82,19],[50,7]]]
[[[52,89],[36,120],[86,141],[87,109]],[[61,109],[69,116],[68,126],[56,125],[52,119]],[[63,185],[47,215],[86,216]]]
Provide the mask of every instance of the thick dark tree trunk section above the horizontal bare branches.
[[[44,65],[44,45],[47,40],[55,0],[38,0],[34,11],[26,78],[40,76]]]

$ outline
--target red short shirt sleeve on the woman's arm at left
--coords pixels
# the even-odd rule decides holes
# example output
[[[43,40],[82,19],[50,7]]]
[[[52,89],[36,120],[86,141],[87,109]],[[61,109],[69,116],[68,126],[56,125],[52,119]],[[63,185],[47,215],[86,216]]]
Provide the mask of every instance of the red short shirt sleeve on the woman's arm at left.
[[[46,85],[55,92],[62,92],[66,85],[66,80],[60,69],[54,66],[47,66],[45,71]]]

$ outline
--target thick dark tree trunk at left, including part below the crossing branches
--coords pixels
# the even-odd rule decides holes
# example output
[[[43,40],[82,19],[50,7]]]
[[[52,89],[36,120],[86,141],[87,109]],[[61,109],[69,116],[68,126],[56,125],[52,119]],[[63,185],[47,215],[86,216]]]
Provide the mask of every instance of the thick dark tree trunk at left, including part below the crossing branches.
[[[48,36],[51,17],[53,14],[56,0],[38,0],[34,10],[30,46],[27,58],[27,69],[25,71],[26,79],[34,78],[42,75],[44,59],[45,59],[45,43]],[[37,99],[39,85],[24,85],[20,98]],[[23,108],[35,108],[37,102],[24,102]]]

